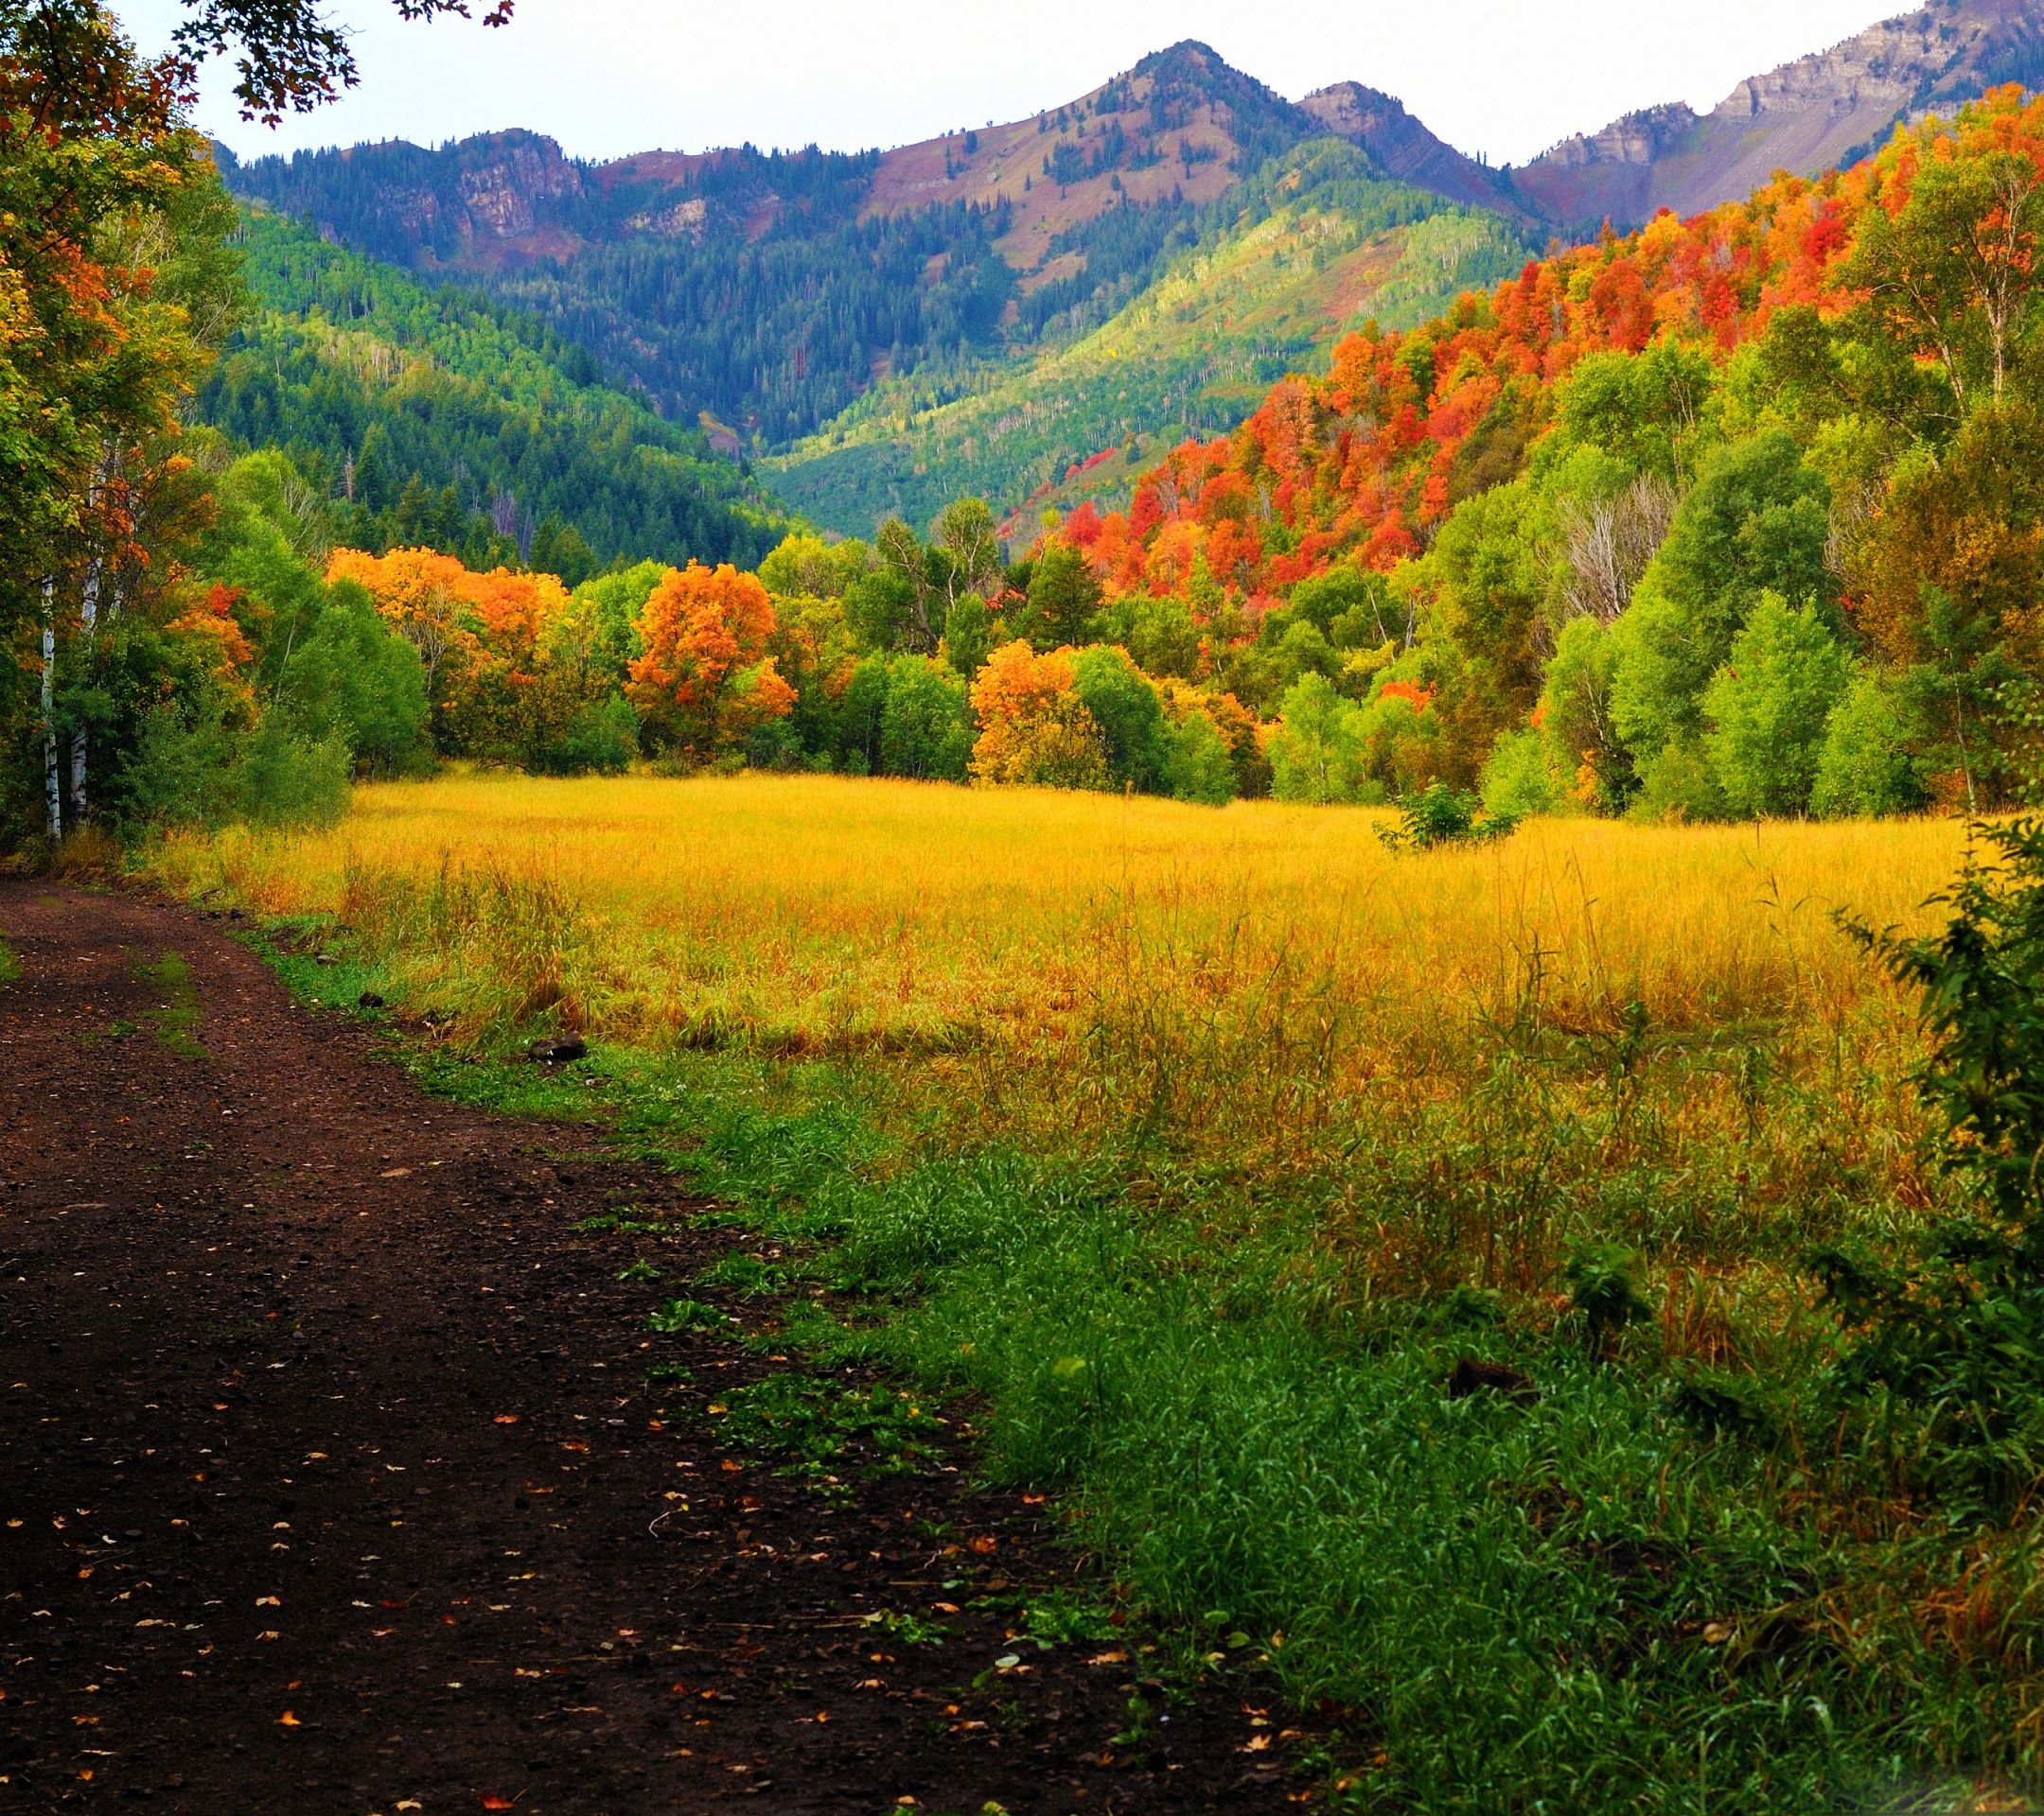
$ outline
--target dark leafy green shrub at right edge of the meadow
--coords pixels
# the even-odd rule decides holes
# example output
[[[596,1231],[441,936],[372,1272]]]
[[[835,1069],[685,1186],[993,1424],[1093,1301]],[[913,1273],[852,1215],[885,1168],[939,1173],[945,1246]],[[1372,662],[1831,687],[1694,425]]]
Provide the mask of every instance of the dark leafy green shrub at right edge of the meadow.
[[[1848,1332],[1840,1383],[1913,1414],[1893,1430],[1917,1475],[1999,1516],[2044,1473],[2044,821],[1977,827],[1940,934],[1846,921],[1921,993],[1932,1034],[1917,1087],[1942,1124],[1938,1164],[1975,1211],[1913,1264],[1848,1248],[1811,1256]]]

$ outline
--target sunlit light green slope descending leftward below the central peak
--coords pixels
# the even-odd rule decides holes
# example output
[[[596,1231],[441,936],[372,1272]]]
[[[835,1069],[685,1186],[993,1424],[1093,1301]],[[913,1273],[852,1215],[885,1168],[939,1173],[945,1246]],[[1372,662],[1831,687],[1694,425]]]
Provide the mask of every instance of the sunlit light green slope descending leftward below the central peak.
[[[965,494],[997,513],[1071,505],[1124,488],[1190,433],[1235,427],[1273,380],[1325,364],[1365,319],[1408,327],[1523,264],[1506,223],[1369,180],[1365,168],[1345,145],[1300,147],[1261,178],[1241,219],[1102,327],[944,388],[883,382],[769,462],[773,484],[854,535],[891,511],[922,523]],[[1104,449],[1118,451],[1067,482],[1073,464]]]

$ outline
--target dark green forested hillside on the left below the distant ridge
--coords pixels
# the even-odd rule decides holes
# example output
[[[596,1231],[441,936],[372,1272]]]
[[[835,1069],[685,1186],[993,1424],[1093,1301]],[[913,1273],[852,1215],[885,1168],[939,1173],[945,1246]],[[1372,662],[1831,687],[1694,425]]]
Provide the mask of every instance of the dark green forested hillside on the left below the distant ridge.
[[[282,447],[356,545],[489,564],[654,556],[756,562],[785,533],[693,427],[603,384],[546,323],[323,243],[266,210],[241,227],[253,308],[200,421]],[[572,535],[568,535],[572,531]]]

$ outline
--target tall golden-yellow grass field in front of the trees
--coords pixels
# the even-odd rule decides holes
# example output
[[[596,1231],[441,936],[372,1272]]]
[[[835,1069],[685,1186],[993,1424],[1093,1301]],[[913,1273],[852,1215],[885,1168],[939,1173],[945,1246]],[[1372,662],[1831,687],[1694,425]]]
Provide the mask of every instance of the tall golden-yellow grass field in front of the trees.
[[[1852,1046],[1899,1077],[1909,1009],[1833,925],[1921,923],[1954,821],[1529,823],[1398,856],[1357,809],[822,776],[358,791],[327,833],[157,860],[186,895],[331,913],[482,1028],[889,1056],[973,1117],[1169,1099],[1237,1144],[1329,1101],[1464,1089],[1502,1025]],[[419,995],[425,993],[425,995]]]

